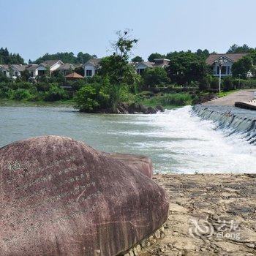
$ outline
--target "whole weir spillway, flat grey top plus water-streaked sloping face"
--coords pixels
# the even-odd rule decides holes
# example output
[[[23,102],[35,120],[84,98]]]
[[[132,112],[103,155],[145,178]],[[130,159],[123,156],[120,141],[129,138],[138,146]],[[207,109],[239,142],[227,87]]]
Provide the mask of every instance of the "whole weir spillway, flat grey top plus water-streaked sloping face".
[[[256,113],[227,106],[195,105],[192,114],[214,121],[217,129],[225,129],[227,135],[239,133],[244,140],[256,146]]]

